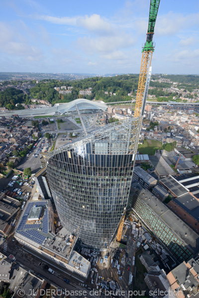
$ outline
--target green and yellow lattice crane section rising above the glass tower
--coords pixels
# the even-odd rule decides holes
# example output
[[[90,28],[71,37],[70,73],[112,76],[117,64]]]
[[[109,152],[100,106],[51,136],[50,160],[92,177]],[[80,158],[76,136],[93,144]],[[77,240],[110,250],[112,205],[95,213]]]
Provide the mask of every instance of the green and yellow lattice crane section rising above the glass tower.
[[[136,97],[136,103],[135,103],[135,113],[134,113],[135,118],[141,116],[142,111],[144,111],[144,109],[142,109],[142,105],[143,105],[143,99],[144,99],[144,91],[145,91],[145,85],[147,80],[147,74],[151,66],[152,54],[155,48],[155,45],[153,43],[153,34],[154,34],[154,27],[155,27],[156,17],[158,13],[159,3],[160,3],[160,0],[151,0],[151,3],[150,3],[147,38],[146,38],[144,47],[142,49],[142,62],[140,67],[140,76],[139,76],[137,97]]]

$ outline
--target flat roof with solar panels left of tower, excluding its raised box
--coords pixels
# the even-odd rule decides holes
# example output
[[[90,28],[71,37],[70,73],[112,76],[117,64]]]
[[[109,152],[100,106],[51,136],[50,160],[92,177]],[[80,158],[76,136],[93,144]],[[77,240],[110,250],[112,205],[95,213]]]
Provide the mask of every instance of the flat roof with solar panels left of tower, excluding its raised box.
[[[78,238],[72,235],[65,227],[59,230],[56,235],[51,232],[50,206],[50,200],[28,202],[17,225],[16,237],[40,248],[45,253],[52,255],[62,262],[68,263],[69,260],[69,265],[72,267],[76,266],[76,269],[87,273],[90,262],[76,251],[73,251]],[[33,208],[42,208],[41,215],[39,220],[29,221],[28,218]],[[81,260],[79,259],[80,257],[82,258]],[[79,266],[79,268],[77,268],[78,265],[73,265],[72,261],[74,258],[80,262],[81,266]]]

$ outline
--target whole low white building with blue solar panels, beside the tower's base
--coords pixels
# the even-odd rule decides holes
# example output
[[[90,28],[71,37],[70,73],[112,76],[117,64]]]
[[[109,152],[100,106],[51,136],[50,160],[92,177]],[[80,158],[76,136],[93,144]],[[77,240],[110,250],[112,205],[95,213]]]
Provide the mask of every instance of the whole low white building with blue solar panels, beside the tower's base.
[[[27,202],[17,224],[15,238],[41,256],[85,278],[91,263],[74,250],[77,237],[66,228],[55,234],[50,200]]]

